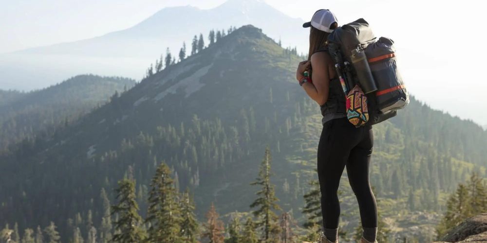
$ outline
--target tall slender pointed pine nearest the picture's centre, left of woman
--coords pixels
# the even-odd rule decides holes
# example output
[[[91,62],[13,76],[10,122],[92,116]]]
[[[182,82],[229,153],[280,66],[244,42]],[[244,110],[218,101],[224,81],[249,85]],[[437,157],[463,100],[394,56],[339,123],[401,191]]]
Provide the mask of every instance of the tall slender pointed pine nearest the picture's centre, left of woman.
[[[256,193],[259,197],[250,205],[250,208],[257,208],[252,213],[258,218],[257,226],[262,227],[262,240],[264,242],[277,242],[280,228],[277,223],[278,217],[272,210],[281,210],[281,207],[276,203],[279,199],[275,195],[274,185],[270,183],[270,162],[271,155],[269,146],[267,146],[259,171],[259,177],[255,182],[250,184],[259,185],[262,189]]]

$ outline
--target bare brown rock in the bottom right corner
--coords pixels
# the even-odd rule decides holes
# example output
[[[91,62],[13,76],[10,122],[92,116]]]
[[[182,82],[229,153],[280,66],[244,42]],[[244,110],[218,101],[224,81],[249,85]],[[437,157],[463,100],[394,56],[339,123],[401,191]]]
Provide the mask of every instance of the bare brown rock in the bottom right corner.
[[[437,243],[445,242],[487,242],[487,213],[468,218]]]

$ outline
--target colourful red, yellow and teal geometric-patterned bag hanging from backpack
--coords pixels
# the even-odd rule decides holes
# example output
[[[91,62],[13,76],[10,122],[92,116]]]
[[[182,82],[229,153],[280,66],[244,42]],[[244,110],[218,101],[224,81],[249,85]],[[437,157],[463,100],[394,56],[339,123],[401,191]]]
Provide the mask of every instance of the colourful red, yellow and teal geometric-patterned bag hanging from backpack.
[[[369,121],[367,96],[357,85],[347,95],[347,117],[355,127],[363,126]]]

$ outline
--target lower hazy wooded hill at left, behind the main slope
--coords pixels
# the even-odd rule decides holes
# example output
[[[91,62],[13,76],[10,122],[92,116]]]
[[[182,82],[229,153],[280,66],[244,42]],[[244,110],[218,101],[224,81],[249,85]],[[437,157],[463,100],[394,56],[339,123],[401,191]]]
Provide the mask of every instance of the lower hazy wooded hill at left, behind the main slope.
[[[126,78],[78,75],[28,93],[0,90],[0,151],[40,132],[51,134],[59,124],[77,120],[134,84]]]

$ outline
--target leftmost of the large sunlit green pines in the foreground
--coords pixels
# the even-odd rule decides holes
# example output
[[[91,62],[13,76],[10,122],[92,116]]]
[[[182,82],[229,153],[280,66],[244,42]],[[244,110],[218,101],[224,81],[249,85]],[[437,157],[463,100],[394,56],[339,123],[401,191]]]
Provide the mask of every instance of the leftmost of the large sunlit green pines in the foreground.
[[[146,232],[141,227],[142,218],[139,206],[135,201],[135,181],[123,179],[118,182],[116,189],[118,204],[112,206],[112,215],[118,215],[115,221],[115,233],[112,241],[120,243],[143,242]]]

